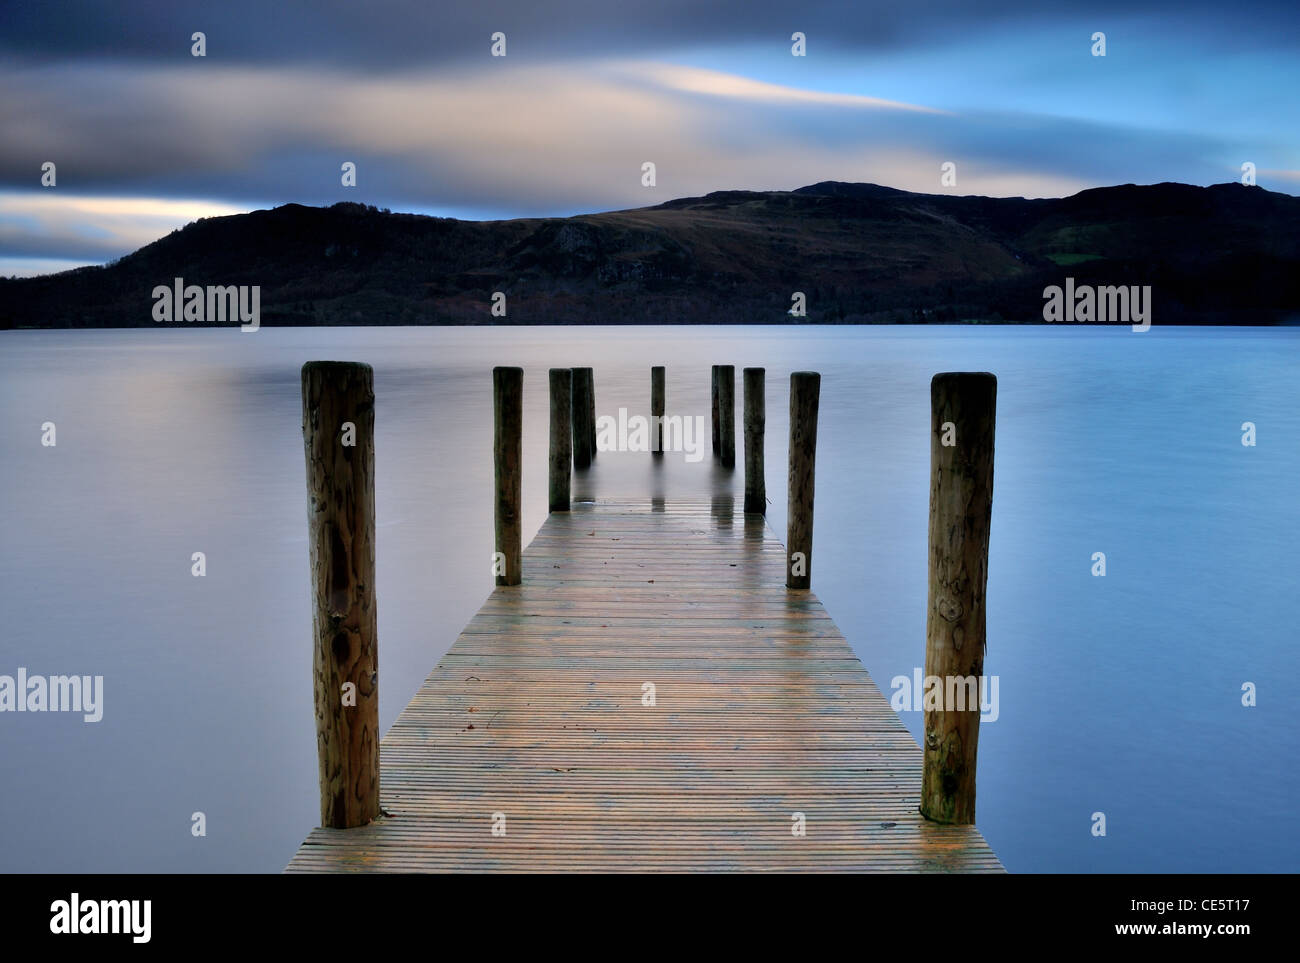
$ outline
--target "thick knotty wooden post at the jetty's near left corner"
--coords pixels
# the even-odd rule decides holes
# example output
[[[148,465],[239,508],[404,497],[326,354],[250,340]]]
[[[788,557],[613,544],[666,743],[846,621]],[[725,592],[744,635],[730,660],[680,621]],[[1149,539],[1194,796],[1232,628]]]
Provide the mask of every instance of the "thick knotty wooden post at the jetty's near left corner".
[[[312,676],[321,825],[380,815],[380,652],[374,612],[374,373],[303,365],[312,567]]]

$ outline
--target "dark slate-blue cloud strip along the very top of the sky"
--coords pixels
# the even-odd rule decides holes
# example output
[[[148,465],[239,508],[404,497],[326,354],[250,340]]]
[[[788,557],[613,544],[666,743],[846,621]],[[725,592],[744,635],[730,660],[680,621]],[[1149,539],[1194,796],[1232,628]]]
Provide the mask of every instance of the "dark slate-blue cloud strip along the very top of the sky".
[[[0,51],[34,58],[176,61],[190,35],[207,34],[209,56],[248,64],[338,64],[389,69],[481,57],[493,31],[510,56],[530,60],[607,57],[662,49],[771,43],[793,31],[826,51],[898,49],[988,29],[1117,17],[1216,23],[1223,44],[1296,43],[1295,0],[474,0],[473,3],[112,3],[9,0]]]

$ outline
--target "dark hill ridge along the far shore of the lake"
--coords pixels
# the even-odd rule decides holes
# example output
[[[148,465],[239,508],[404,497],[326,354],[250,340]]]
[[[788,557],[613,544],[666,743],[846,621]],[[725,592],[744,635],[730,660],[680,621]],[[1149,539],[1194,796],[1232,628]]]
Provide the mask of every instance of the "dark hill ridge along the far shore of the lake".
[[[263,325],[1041,321],[1044,287],[1066,277],[1150,285],[1154,324],[1279,324],[1300,318],[1300,198],[828,181],[512,221],[286,204],[200,220],[103,268],[0,279],[0,326],[153,326],[152,291],[177,277],[260,286]],[[806,317],[788,313],[794,291]]]

